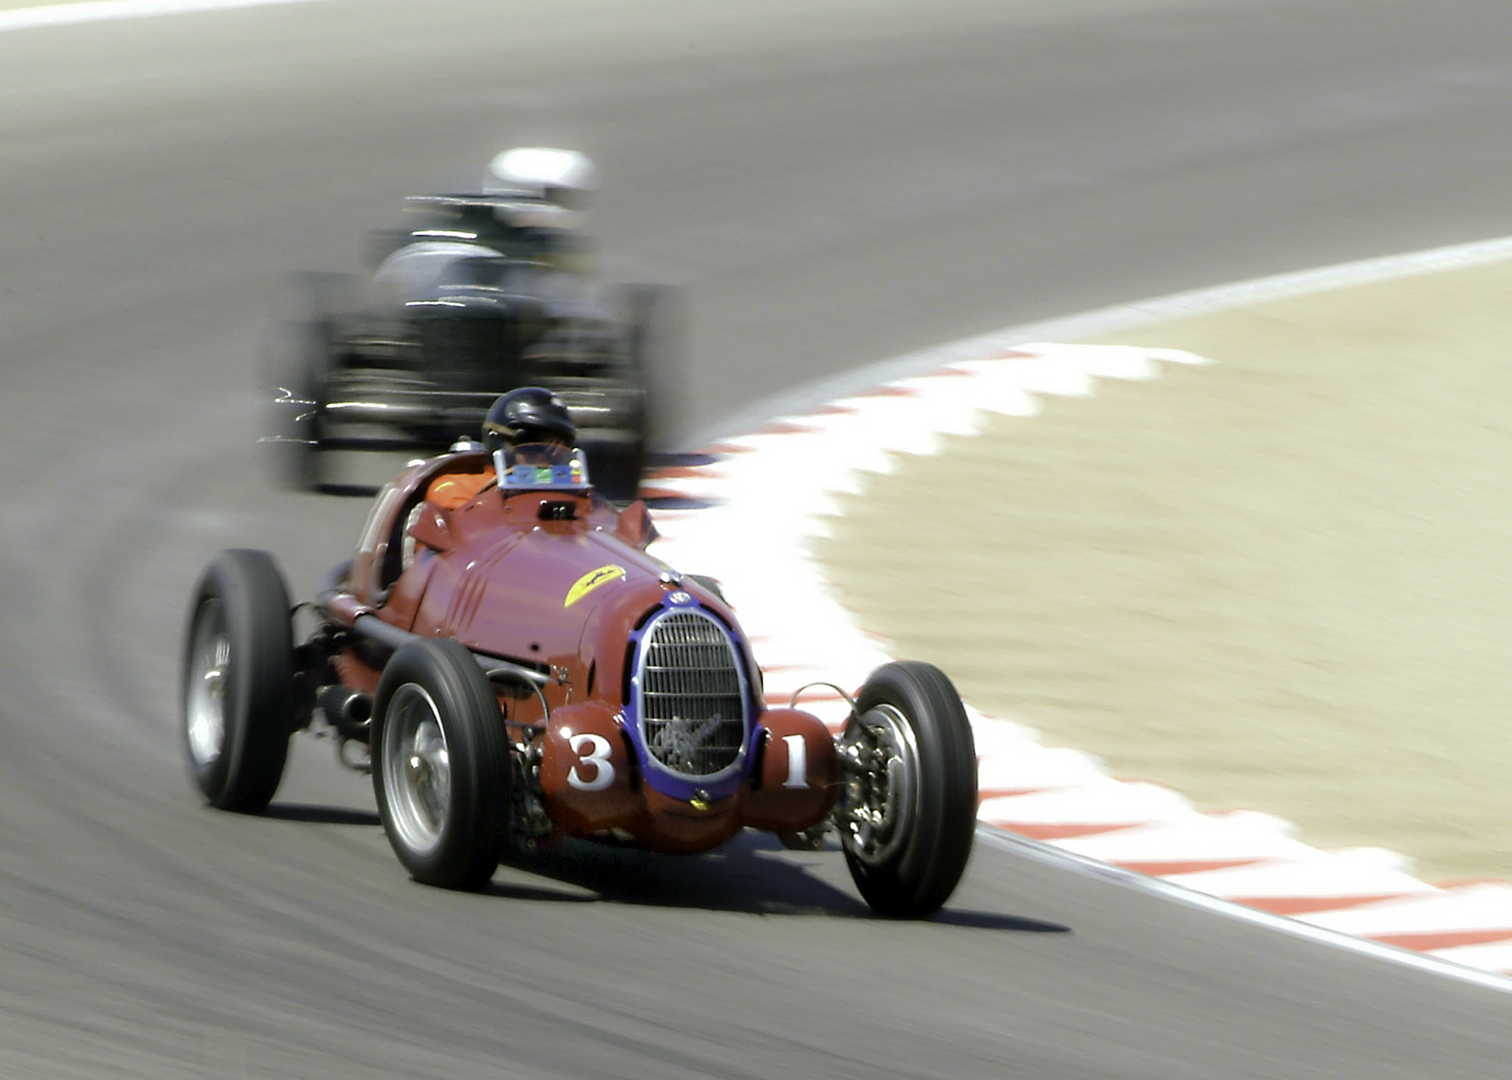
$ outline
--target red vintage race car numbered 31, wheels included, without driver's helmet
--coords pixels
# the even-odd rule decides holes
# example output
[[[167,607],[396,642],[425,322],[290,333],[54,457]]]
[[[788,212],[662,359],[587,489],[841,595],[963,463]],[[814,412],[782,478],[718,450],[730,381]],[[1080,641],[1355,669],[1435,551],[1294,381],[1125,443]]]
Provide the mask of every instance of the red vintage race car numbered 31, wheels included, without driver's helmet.
[[[314,728],[370,771],[389,841],[423,883],[479,888],[502,858],[567,836],[697,853],[747,827],[810,850],[833,830],[872,909],[937,909],[977,812],[950,679],[885,664],[847,694],[839,737],[797,696],[768,705],[718,585],[647,554],[644,504],[617,510],[565,455],[464,449],[410,467],[298,644],[272,558],[222,552],[183,656],[206,800],[260,812],[290,735]],[[455,510],[426,498],[440,476],[490,470]]]

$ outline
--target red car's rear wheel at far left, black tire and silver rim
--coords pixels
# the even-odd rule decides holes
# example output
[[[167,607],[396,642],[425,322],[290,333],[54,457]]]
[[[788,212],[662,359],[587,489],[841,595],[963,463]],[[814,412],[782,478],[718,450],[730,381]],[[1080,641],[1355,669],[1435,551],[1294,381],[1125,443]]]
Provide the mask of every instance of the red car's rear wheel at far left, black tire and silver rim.
[[[195,588],[183,652],[189,774],[212,806],[266,809],[295,726],[289,590],[262,551],[225,551]]]

